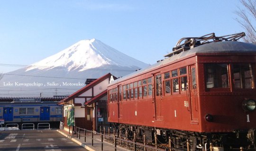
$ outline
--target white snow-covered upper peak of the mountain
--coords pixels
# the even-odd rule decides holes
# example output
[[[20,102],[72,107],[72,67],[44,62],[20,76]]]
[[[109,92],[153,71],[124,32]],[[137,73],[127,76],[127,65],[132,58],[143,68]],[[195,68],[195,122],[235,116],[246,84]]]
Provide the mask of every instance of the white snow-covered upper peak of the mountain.
[[[38,61],[27,67],[26,71],[39,69],[66,68],[84,71],[104,65],[119,67],[146,67],[147,64],[119,52],[97,39],[82,40],[72,46]]]

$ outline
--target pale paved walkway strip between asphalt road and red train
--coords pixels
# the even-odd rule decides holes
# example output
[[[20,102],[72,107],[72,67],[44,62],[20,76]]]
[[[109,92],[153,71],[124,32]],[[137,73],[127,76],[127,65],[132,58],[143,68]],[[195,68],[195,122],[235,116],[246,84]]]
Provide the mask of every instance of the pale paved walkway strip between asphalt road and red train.
[[[101,151],[101,135],[93,135],[93,146],[91,145],[91,134],[86,134],[86,142],[84,141],[84,135],[81,134],[80,139],[76,138],[76,134],[69,134],[65,130],[58,129],[57,132],[63,134],[65,137],[71,139],[73,142],[78,143],[86,150],[89,151]],[[115,146],[108,142],[103,141],[103,151],[115,151]],[[117,147],[117,151],[130,151],[126,148]]]

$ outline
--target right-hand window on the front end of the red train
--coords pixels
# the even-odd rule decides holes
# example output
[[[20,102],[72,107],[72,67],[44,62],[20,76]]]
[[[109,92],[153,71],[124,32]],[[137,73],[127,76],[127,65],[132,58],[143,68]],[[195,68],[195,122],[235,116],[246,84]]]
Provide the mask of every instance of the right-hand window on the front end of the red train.
[[[233,82],[235,88],[254,89],[253,68],[249,64],[233,64]]]

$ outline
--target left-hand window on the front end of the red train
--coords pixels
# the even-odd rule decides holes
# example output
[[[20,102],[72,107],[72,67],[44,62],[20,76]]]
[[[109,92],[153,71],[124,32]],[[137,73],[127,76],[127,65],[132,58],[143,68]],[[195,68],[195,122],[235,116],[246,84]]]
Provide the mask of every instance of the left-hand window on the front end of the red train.
[[[228,88],[228,64],[209,63],[205,64],[206,88]]]

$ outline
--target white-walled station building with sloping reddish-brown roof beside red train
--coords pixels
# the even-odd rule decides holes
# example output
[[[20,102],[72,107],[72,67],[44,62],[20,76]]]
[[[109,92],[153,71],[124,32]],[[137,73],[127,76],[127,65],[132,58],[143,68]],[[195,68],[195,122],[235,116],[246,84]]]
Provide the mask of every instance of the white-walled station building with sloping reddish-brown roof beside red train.
[[[58,104],[63,105],[64,110],[63,129],[73,131],[73,127],[78,126],[98,130],[100,126],[108,126],[107,86],[115,79],[110,73],[98,79],[87,79],[86,86],[60,101]],[[73,124],[70,124],[70,120],[73,120]]]

